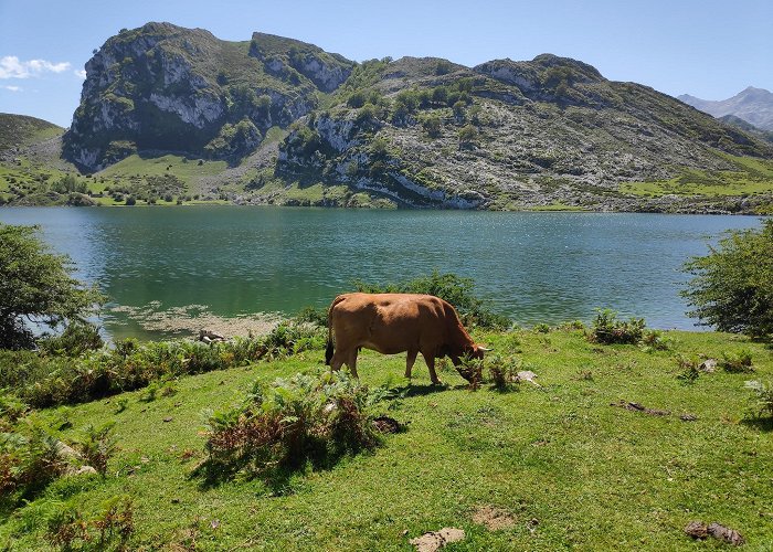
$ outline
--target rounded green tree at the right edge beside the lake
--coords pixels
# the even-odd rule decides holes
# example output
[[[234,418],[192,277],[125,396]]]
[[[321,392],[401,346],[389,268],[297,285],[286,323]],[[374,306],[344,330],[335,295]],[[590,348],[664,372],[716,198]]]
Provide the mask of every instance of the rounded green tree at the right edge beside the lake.
[[[710,253],[685,264],[695,277],[681,291],[690,316],[720,331],[773,337],[773,220],[730,232]]]

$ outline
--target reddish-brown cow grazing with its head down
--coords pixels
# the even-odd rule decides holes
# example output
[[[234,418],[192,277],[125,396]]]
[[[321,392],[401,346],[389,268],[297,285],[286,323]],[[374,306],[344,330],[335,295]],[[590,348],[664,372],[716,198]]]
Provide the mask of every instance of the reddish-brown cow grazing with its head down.
[[[335,346],[333,346],[335,335]],[[347,364],[357,378],[357,353],[360,348],[383,354],[407,351],[405,378],[421,352],[432,383],[441,383],[435,359],[449,357],[467,380],[472,375],[459,370],[463,358],[483,359],[488,349],[476,344],[464,329],[454,307],[432,295],[415,294],[343,294],[336,297],[328,310],[328,342],[325,363],[330,370]]]

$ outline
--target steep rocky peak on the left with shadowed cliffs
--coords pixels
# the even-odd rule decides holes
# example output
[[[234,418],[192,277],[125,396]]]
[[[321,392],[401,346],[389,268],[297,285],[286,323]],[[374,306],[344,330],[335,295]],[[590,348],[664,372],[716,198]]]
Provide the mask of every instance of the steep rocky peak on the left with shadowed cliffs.
[[[109,39],[86,63],[64,153],[86,169],[138,150],[239,158],[338,87],[353,62],[254,33],[227,42],[202,29],[148,23]]]

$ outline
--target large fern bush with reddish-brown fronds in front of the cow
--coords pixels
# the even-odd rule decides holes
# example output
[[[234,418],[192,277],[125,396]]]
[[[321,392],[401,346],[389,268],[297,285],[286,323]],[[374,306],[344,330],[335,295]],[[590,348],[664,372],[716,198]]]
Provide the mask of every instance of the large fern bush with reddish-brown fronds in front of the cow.
[[[345,372],[297,374],[269,385],[257,382],[241,407],[210,413],[208,458],[198,473],[221,480],[240,471],[258,475],[307,461],[329,466],[345,454],[378,444],[368,412],[377,400]]]

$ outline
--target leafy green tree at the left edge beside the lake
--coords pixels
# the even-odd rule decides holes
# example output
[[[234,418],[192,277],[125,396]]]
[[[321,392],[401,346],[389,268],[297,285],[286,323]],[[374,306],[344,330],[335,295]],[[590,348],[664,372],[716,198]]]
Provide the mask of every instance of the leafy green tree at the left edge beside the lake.
[[[32,348],[29,325],[83,322],[104,300],[70,275],[73,262],[52,253],[39,231],[0,224],[0,349]]]

